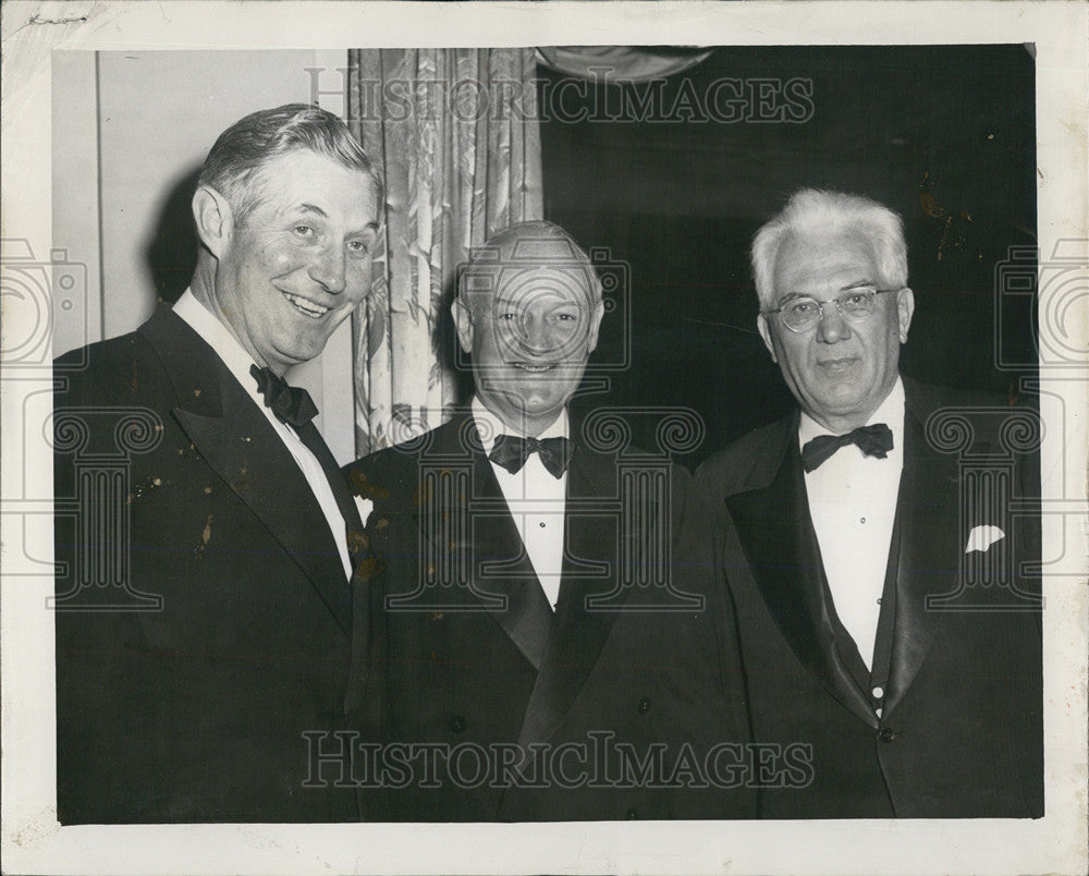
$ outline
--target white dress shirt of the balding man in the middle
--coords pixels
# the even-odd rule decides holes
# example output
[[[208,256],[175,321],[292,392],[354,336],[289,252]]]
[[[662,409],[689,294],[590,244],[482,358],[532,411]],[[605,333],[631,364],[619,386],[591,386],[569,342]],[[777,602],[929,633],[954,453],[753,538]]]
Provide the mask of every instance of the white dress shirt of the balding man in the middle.
[[[477,398],[473,399],[473,419],[486,454],[491,453],[499,435],[528,437],[505,426]],[[566,410],[536,437],[566,438]],[[566,507],[567,473],[553,477],[537,453],[529,454],[517,474],[511,474],[494,462],[491,462],[491,469],[503,490],[503,498],[511,509],[511,516],[518,527],[518,535],[522,536],[522,544],[526,547],[526,555],[537,573],[537,580],[554,611],[560,599],[560,579],[563,573],[563,513]]]

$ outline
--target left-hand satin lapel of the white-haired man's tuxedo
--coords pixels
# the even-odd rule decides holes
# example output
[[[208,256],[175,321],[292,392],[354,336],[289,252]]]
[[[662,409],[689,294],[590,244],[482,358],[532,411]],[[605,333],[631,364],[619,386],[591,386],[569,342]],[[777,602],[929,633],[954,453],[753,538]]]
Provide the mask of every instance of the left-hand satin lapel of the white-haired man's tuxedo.
[[[783,424],[781,440],[769,442],[766,458],[755,466],[770,480],[761,486],[750,478],[754,488],[726,497],[726,506],[764,605],[798,660],[840,703],[874,725],[870,704],[835,654],[822,596],[824,571],[802,473],[797,418]]]

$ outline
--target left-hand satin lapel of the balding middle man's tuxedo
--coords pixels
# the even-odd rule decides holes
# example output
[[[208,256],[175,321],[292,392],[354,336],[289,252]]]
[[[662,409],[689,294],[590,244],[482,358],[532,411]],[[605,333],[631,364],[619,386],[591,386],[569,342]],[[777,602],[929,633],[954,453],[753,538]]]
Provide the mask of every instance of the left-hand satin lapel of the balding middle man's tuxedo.
[[[468,475],[468,488],[444,490],[432,497],[437,514],[417,514],[424,537],[438,551],[449,550],[453,568],[467,581],[457,595],[466,610],[486,610],[510,636],[535,669],[544,658],[552,607],[537,581],[511,516],[503,491],[470,417],[458,417],[442,427],[432,459]],[[467,591],[467,593],[465,592]]]

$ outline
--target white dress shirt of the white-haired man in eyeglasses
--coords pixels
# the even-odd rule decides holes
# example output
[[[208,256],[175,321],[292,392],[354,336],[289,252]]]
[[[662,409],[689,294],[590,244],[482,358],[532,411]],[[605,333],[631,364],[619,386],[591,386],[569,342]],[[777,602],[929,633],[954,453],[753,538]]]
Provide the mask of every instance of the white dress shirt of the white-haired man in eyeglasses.
[[[857,446],[847,445],[819,469],[806,473],[809,515],[835,613],[868,669],[873,666],[881,592],[904,467],[904,385],[900,378],[866,425],[873,423],[884,423],[892,430],[893,447],[883,460],[866,457]],[[828,434],[803,412],[800,447]]]

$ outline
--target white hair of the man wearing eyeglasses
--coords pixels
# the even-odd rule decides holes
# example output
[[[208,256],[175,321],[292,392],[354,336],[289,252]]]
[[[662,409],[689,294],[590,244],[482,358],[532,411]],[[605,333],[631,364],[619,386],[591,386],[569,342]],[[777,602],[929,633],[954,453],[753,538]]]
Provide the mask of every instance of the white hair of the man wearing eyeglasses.
[[[776,300],[772,278],[784,240],[792,234],[845,230],[856,230],[872,243],[881,272],[874,282],[889,288],[907,285],[907,243],[898,214],[862,195],[799,188],[752,238],[752,279],[761,306]]]

